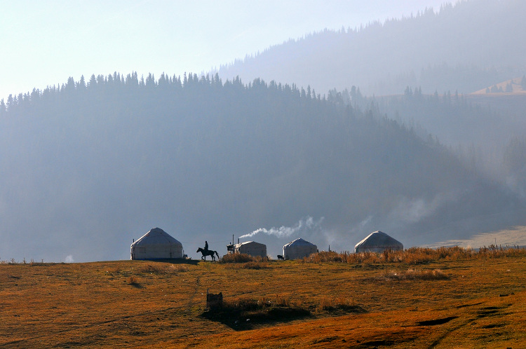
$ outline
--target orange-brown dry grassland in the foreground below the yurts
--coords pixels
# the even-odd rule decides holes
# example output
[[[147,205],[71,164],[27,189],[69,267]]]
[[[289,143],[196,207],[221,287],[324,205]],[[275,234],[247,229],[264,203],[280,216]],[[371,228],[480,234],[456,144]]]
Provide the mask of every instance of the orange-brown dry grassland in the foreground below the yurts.
[[[526,348],[524,249],[431,259],[426,251],[360,261],[3,263],[0,346]],[[206,312],[207,289],[245,311]]]

